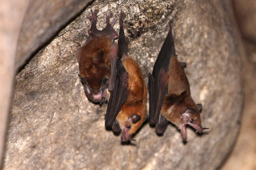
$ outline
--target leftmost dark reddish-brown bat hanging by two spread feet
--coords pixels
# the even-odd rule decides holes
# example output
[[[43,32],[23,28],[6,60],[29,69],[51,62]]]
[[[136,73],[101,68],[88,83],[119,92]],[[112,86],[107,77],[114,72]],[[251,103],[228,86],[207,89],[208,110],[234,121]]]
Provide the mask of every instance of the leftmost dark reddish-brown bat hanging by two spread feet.
[[[113,29],[116,20],[114,19],[111,24],[109,23],[111,17],[109,12],[106,17],[106,27],[102,31],[97,29],[98,11],[92,11],[92,16],[88,17],[92,26],[88,31],[89,36],[86,43],[77,50],[77,61],[79,63],[79,76],[84,85],[86,96],[90,101],[101,105],[108,100],[108,90],[113,90],[117,55],[117,46],[113,40],[118,38],[118,34]]]

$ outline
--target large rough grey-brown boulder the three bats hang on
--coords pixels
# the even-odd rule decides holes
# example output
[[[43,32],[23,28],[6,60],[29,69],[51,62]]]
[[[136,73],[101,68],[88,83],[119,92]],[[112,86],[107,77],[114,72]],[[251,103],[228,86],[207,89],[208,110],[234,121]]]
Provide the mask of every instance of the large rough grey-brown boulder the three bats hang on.
[[[209,132],[197,136],[188,128],[184,145],[173,125],[159,137],[146,122],[133,145],[121,145],[120,136],[106,131],[106,104],[88,102],[77,76],[76,50],[86,40],[92,8],[100,10],[99,28],[107,10],[127,14],[129,54],[146,81],[173,17],[176,52],[188,64]],[[216,169],[239,130],[240,41],[229,1],[95,1],[17,75],[4,169]]]

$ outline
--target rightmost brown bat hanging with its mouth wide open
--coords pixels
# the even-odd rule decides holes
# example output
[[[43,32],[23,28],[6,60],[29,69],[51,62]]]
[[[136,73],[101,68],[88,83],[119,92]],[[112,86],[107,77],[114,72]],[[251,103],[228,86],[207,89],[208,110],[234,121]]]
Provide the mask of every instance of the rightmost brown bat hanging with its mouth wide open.
[[[186,125],[201,133],[200,111],[202,104],[195,104],[189,89],[184,67],[178,62],[172,36],[172,25],[154,64],[153,73],[148,74],[149,123],[156,125],[157,134],[163,134],[168,121],[180,129],[183,141],[187,139]]]

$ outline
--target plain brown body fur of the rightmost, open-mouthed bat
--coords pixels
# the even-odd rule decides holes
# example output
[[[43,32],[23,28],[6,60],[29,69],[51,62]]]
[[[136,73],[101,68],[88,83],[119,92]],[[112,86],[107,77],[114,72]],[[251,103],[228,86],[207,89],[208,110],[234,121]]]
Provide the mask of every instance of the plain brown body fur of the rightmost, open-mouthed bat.
[[[196,110],[191,118],[195,120],[195,124],[200,125],[200,113],[195,101],[190,96],[188,79],[177,57],[173,56],[168,73],[168,96],[164,97],[161,113],[167,120],[180,128],[180,125],[185,123],[182,113],[186,108]]]

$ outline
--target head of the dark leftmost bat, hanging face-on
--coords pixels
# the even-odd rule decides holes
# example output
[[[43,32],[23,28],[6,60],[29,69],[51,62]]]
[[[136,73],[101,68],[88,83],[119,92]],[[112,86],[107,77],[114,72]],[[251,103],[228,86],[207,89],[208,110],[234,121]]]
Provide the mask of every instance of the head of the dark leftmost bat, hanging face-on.
[[[98,81],[97,78],[87,80],[85,77],[81,78],[81,81],[84,86],[84,92],[90,101],[100,103],[101,105],[104,101],[108,100],[109,79],[106,76],[101,81]]]

